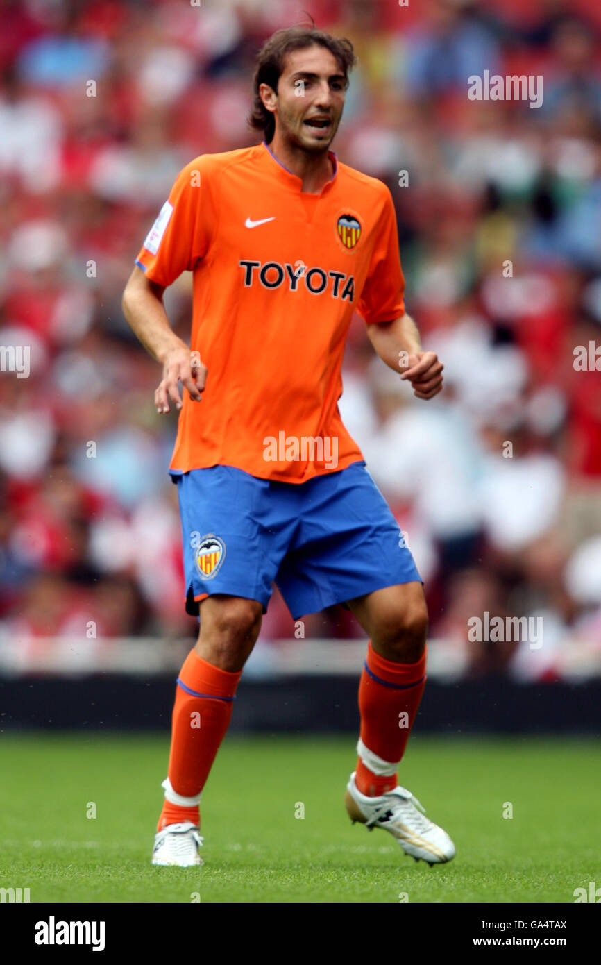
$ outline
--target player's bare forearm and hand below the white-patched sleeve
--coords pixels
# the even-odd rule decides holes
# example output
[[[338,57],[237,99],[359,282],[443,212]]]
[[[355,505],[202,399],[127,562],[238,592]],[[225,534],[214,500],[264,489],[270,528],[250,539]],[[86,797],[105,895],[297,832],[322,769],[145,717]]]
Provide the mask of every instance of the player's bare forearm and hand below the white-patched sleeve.
[[[144,271],[134,267],[123,291],[123,315],[142,345],[163,367],[163,377],[154,393],[159,413],[169,412],[169,400],[181,408],[178,380],[190,399],[200,400],[205,388],[206,368],[193,366],[190,349],[169,324],[163,305],[165,289],[150,281]]]

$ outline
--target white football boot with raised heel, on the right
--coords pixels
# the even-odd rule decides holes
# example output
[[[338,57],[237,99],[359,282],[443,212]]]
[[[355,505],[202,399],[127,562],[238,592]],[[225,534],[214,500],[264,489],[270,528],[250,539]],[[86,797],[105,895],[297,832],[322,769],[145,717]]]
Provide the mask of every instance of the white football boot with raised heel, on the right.
[[[398,785],[380,797],[367,797],[355,784],[353,771],[346,785],[344,804],[353,824],[360,821],[368,831],[390,831],[405,854],[416,861],[422,858],[431,867],[455,856],[455,846],[447,832],[425,817],[422,805],[406,787]]]

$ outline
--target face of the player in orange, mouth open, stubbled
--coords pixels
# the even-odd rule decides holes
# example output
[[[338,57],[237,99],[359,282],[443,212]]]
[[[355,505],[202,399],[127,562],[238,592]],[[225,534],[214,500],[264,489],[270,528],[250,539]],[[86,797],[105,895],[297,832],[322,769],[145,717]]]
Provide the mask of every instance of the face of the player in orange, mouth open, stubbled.
[[[326,47],[306,47],[287,54],[273,94],[276,130],[305,151],[327,152],[344,107],[344,75]]]

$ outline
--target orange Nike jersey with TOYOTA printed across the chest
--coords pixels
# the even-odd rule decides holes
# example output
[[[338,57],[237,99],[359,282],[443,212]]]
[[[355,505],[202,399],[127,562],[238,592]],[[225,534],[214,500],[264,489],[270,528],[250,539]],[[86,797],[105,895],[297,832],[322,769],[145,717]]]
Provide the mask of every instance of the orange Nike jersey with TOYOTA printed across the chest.
[[[172,473],[214,465],[304,483],[363,458],[343,427],[344,343],[404,313],[389,189],[339,163],[318,195],[263,144],[203,154],[178,175],[137,264],[158,285],[193,272],[190,348]]]

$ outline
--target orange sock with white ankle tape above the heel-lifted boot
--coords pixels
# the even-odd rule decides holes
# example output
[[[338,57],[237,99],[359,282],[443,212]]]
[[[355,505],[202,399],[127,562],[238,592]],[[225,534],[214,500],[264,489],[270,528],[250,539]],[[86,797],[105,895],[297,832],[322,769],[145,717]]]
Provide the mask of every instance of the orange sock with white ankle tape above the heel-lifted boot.
[[[395,663],[368,643],[359,684],[361,735],[355,777],[362,794],[377,797],[398,784],[396,770],[422,700],[425,659],[424,650],[417,663]]]

